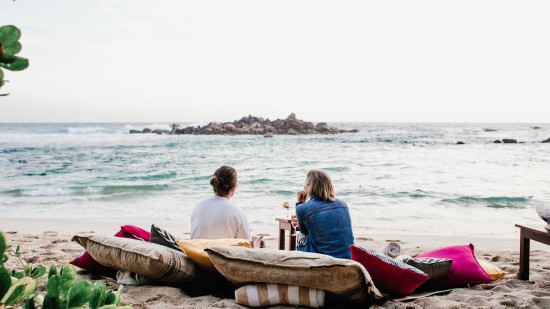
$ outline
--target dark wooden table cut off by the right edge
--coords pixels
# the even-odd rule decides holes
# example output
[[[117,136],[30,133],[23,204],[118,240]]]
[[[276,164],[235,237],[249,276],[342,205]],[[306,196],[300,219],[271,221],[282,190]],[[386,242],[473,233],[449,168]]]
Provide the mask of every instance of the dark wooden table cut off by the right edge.
[[[550,232],[545,228],[528,227],[516,224],[519,227],[519,278],[529,280],[529,250],[531,239],[550,245]]]

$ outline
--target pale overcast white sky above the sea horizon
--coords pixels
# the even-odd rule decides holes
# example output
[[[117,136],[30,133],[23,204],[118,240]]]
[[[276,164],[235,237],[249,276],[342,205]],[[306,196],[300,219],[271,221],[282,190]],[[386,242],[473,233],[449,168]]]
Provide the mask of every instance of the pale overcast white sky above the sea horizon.
[[[0,122],[549,122],[550,1],[0,0]]]

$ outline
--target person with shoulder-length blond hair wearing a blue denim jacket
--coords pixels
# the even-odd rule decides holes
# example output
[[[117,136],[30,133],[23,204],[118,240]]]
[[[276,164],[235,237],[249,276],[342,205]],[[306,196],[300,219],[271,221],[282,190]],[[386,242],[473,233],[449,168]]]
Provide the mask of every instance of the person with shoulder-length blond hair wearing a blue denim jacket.
[[[299,251],[351,258],[349,246],[354,238],[348,205],[335,197],[330,176],[324,171],[307,173],[293,220],[298,221],[298,229],[305,236],[298,240]]]

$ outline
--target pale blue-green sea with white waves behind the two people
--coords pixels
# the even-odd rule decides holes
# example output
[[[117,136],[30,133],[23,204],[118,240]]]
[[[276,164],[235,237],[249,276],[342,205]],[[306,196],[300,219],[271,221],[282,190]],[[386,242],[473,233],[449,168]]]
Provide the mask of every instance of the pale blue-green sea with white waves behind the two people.
[[[329,126],[360,132],[264,138],[129,134],[169,123],[0,124],[0,216],[189,225],[194,205],[213,194],[212,173],[231,165],[231,201],[256,233],[287,215],[283,202],[294,205],[310,169],[332,177],[356,236],[504,238],[517,235],[515,223],[543,225],[534,208],[550,205],[550,144],[540,143],[550,124]],[[521,143],[493,143],[502,138]]]

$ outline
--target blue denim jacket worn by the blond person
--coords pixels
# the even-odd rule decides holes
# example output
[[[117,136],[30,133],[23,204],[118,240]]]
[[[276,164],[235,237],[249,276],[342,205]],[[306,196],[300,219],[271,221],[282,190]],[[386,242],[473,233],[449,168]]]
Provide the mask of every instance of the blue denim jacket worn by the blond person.
[[[353,244],[351,218],[346,202],[323,202],[312,196],[296,205],[300,232],[306,236],[298,243],[299,251],[327,254],[350,259],[349,246]]]

